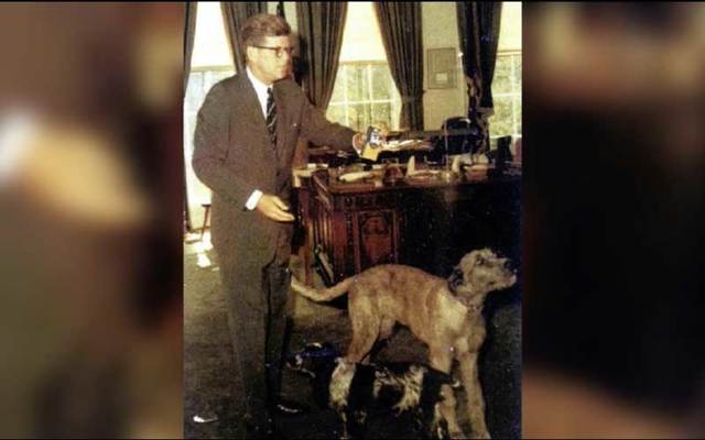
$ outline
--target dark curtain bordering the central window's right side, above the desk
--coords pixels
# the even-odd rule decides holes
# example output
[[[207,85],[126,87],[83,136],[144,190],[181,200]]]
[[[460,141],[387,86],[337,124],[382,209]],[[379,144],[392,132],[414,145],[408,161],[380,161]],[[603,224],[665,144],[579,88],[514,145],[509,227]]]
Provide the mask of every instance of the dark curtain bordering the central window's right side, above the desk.
[[[401,95],[400,128],[423,130],[423,42],[420,2],[380,2],[375,11]]]

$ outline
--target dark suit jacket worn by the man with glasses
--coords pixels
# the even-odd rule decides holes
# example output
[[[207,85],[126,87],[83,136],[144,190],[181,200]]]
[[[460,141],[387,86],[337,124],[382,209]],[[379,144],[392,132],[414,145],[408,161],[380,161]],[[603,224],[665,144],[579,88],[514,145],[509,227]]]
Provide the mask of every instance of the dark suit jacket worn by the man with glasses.
[[[254,189],[289,202],[299,136],[352,150],[355,132],[328,122],[292,80],[276,81],[276,146],[271,144],[254,88],[246,74],[216,84],[204,101],[194,135],[193,167],[213,190],[212,238],[220,265],[247,258],[263,266],[292,223],[270,220],[245,204]]]

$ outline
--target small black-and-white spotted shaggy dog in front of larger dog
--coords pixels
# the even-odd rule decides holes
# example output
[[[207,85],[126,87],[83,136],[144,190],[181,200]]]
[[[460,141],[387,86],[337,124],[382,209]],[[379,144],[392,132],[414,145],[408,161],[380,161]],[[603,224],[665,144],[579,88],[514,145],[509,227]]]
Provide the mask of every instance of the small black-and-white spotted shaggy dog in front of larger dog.
[[[329,343],[311,343],[286,365],[311,377],[316,403],[343,419],[344,438],[365,438],[369,416],[390,411],[411,414],[423,438],[449,438],[438,404],[443,385],[459,386],[453,377],[422,364],[362,365],[339,354]]]

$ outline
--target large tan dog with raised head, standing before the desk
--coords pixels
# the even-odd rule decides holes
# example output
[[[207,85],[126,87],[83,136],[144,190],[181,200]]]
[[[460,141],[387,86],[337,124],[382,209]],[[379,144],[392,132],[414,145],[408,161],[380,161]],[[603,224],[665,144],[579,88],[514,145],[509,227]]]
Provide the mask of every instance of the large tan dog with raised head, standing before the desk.
[[[489,438],[485,424],[485,400],[477,374],[477,355],[485,341],[481,309],[492,290],[512,286],[517,277],[508,260],[488,249],[463,257],[449,279],[419,268],[387,264],[371,267],[327,289],[314,289],[292,278],[292,288],[315,301],[326,301],[348,293],[352,341],[346,359],[368,359],[378,339],[392,332],[395,322],[409,327],[429,345],[430,364],[449,373],[453,359],[460,364],[463,386],[474,438]],[[464,435],[455,416],[451,387],[443,389],[442,413],[454,438]]]

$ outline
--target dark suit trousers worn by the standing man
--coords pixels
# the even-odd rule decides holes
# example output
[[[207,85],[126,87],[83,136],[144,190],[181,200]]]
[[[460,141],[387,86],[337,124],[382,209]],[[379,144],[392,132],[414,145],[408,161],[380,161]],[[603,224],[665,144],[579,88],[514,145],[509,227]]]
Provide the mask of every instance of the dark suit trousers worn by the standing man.
[[[256,426],[271,420],[270,406],[281,392],[290,255],[286,243],[264,266],[240,260],[232,267],[220,267],[241,381],[238,393],[242,392],[247,418]]]

